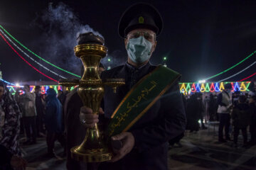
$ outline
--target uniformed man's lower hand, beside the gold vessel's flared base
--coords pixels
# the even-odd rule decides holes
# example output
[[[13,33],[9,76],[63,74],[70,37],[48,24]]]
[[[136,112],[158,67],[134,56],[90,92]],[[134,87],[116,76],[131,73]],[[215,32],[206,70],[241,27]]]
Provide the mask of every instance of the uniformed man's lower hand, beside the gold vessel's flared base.
[[[119,159],[122,159],[125,155],[131,152],[134,147],[134,136],[131,132],[122,132],[119,135],[111,137],[112,140],[121,140],[122,148],[117,150],[113,148],[113,151],[116,155],[111,159],[110,162],[117,162]]]

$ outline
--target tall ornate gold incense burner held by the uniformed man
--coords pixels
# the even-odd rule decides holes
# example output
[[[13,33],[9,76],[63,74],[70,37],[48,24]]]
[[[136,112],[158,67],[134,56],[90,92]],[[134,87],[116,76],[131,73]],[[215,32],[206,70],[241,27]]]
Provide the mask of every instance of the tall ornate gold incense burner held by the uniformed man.
[[[117,86],[124,84],[123,79],[108,79],[102,82],[98,73],[98,66],[102,57],[107,54],[104,40],[92,33],[80,34],[78,45],[75,46],[75,55],[82,60],[84,73],[80,80],[62,80],[60,85],[78,85],[78,95],[84,106],[92,108],[93,114],[99,114],[100,103],[104,95],[104,85],[111,86],[115,91]],[[112,152],[98,129],[85,128],[85,140],[80,146],[71,149],[71,157],[82,162],[105,162],[112,159]]]

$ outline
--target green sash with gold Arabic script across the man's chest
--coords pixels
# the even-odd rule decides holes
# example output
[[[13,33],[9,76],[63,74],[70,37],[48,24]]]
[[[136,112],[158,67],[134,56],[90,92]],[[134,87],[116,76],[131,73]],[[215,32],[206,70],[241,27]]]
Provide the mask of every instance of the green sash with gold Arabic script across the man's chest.
[[[111,116],[109,137],[126,132],[156,103],[181,74],[159,65],[135,84]]]

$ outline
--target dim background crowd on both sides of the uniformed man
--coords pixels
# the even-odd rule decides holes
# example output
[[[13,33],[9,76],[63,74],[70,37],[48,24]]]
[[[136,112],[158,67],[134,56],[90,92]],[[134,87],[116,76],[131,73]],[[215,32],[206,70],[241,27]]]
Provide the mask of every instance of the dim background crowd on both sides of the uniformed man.
[[[255,86],[253,88],[252,91],[255,91]],[[186,130],[196,133],[200,128],[207,129],[204,125],[207,120],[218,121],[219,142],[233,140],[233,147],[238,147],[238,135],[241,130],[242,147],[256,145],[256,96],[253,93],[231,93],[231,89],[231,84],[226,84],[225,89],[218,95],[196,93],[183,96],[187,117]],[[46,95],[41,94],[41,86],[36,86],[35,92],[31,93],[28,85],[23,86],[23,89],[17,89],[13,96],[4,84],[0,84],[0,151],[4,153],[1,154],[1,166],[10,169],[26,166],[19,149],[19,139],[23,135],[26,141],[22,145],[34,145],[38,137],[46,137],[49,157],[55,156],[54,143],[58,140],[63,146],[65,157],[63,106],[66,96],[66,92],[59,90],[56,94],[54,89],[48,89]],[[248,131],[250,137],[247,137]],[[184,133],[170,140],[169,145],[177,144],[182,147],[179,142],[182,137]],[[248,138],[250,141],[247,141]],[[70,147],[78,144],[79,142]]]

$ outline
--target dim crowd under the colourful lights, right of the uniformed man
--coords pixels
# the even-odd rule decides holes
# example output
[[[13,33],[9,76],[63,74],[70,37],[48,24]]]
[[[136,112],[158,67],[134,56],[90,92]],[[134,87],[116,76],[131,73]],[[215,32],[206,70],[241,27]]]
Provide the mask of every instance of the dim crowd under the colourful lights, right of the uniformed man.
[[[225,89],[218,95],[210,94],[203,98],[203,94],[196,93],[183,96],[187,117],[186,129],[198,132],[200,124],[202,129],[206,129],[206,121],[215,122],[219,123],[218,142],[233,140],[233,146],[238,147],[238,135],[241,130],[244,141],[242,146],[255,145],[256,96],[253,82],[250,90],[250,94],[240,91],[232,93],[232,85],[225,84]],[[247,132],[250,132],[250,141],[247,141]]]

